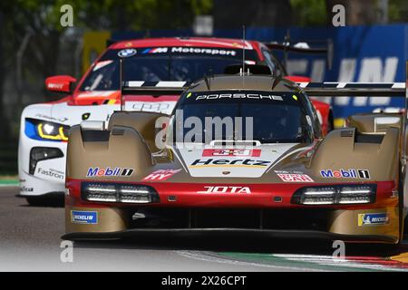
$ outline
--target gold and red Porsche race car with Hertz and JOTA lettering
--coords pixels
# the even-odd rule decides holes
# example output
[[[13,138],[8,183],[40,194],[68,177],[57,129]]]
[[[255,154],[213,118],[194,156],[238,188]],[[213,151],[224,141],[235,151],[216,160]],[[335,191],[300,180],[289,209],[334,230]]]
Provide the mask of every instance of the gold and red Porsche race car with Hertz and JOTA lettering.
[[[149,89],[133,84],[123,93]],[[192,83],[170,120],[117,111],[107,124],[84,121],[68,142],[63,238],[245,231],[398,244],[403,115],[350,116],[323,137],[307,94],[404,92],[404,83],[220,75]]]

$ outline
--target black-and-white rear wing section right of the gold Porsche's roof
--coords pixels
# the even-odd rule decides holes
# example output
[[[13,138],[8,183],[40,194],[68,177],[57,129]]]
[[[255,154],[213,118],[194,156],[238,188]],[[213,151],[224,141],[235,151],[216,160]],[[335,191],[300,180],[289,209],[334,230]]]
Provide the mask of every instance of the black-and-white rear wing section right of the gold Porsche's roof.
[[[405,97],[405,82],[297,82],[314,97]]]

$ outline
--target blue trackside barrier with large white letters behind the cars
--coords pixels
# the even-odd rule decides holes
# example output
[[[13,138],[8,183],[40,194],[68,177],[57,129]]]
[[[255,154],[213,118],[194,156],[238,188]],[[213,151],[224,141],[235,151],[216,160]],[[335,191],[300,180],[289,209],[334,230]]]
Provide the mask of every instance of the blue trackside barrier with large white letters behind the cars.
[[[325,56],[289,54],[288,73],[312,76],[315,82],[405,82],[408,56],[408,25],[345,26],[327,28],[290,28],[291,39],[318,41],[332,39],[335,58],[332,70],[325,66]],[[114,39],[141,38],[145,32],[113,33]],[[247,28],[247,38],[270,42],[282,41],[283,28]],[[151,37],[191,36],[192,30],[152,30]],[[216,37],[240,38],[242,31],[215,30]],[[277,56],[281,53],[277,53]],[[377,108],[403,107],[400,98],[336,98],[331,102],[336,118]]]

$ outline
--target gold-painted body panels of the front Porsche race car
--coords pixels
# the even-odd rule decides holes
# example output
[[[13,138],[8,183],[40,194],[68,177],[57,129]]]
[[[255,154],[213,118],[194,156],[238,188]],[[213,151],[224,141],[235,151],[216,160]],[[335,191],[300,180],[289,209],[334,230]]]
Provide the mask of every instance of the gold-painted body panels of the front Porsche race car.
[[[291,82],[264,76],[252,76],[244,81],[238,76],[211,78],[210,90],[246,89],[267,92],[287,92],[298,90]],[[208,83],[200,81],[192,86],[191,91],[209,91]],[[147,112],[115,112],[108,126],[109,138],[103,141],[84,141],[83,130],[75,126],[70,131],[67,156],[67,179],[97,180],[115,182],[141,182],[141,179],[157,169],[181,169],[180,173],[169,180],[173,183],[208,183],[208,184],[275,184],[283,183],[276,171],[303,172],[316,183],[356,182],[353,179],[324,179],[321,169],[367,169],[370,181],[399,180],[399,158],[402,140],[400,138],[402,117],[399,114],[366,114],[348,118],[350,128],[331,131],[325,139],[310,144],[298,144],[279,160],[273,169],[267,170],[257,179],[228,177],[192,178],[185,169],[186,164],[177,158],[177,150],[167,140],[168,147],[159,150],[155,146],[155,121],[163,117],[160,113]],[[400,121],[375,127],[375,118],[393,117]],[[359,142],[357,134],[381,135],[382,140]],[[306,152],[305,154],[299,154]],[[180,156],[179,156],[180,157]],[[103,179],[86,177],[91,167],[133,168],[134,174],[129,177],[105,177]],[[337,209],[333,210],[327,231],[340,235],[383,236],[393,243],[400,239],[400,212],[398,194],[390,198],[384,205],[372,209]],[[71,221],[72,210],[96,210],[99,212],[97,225],[78,225]],[[360,214],[387,213],[389,221],[386,225],[362,227],[358,225]],[[76,207],[69,197],[66,205],[66,232],[115,232],[129,227],[131,210],[120,207]]]

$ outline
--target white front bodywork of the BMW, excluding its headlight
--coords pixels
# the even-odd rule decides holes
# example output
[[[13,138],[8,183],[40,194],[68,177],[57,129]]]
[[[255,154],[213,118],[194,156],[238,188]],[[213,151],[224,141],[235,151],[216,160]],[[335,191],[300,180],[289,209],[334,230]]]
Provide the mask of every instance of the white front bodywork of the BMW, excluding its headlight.
[[[176,102],[126,102],[126,111],[159,111],[170,113]],[[89,113],[88,121],[109,121],[113,111],[120,111],[119,104],[105,105],[68,105],[61,103],[34,104],[26,107],[21,116],[20,138],[18,145],[18,175],[20,195],[24,197],[42,196],[45,194],[63,194],[65,189],[65,160],[67,143],[53,140],[34,140],[25,134],[25,119],[73,126],[83,121],[83,114]],[[34,147],[58,148],[63,152],[62,158],[41,160],[37,162],[34,174],[29,173],[30,151]]]

